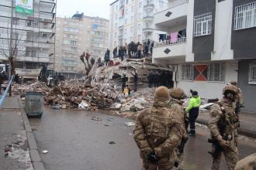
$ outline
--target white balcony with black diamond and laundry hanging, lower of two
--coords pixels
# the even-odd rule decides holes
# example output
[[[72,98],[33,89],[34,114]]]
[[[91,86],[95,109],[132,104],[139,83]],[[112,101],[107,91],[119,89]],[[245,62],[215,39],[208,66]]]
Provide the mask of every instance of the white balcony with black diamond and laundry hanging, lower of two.
[[[166,40],[154,43],[154,59],[175,59],[186,55],[187,38]]]

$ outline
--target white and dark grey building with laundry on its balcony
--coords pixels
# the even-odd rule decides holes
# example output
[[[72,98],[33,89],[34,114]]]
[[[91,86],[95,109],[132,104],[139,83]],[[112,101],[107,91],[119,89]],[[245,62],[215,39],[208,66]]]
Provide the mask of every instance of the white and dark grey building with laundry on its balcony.
[[[255,0],[169,0],[154,14],[154,24],[167,32],[155,43],[154,63],[170,66],[175,86],[213,99],[237,80],[244,110],[255,112]]]

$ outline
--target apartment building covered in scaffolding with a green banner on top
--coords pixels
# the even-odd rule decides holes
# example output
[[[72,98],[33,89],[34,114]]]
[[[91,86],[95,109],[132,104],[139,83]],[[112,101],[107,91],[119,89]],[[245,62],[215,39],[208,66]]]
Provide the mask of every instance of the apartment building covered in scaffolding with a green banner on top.
[[[10,41],[21,76],[54,67],[55,0],[0,0],[0,63],[9,63]]]

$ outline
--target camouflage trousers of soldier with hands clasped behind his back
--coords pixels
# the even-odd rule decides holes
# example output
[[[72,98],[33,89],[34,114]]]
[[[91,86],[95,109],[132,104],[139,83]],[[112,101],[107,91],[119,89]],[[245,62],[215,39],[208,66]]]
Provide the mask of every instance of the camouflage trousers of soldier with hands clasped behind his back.
[[[175,162],[169,162],[168,158],[161,158],[157,164],[151,164],[148,161],[143,161],[142,170],[171,170]]]

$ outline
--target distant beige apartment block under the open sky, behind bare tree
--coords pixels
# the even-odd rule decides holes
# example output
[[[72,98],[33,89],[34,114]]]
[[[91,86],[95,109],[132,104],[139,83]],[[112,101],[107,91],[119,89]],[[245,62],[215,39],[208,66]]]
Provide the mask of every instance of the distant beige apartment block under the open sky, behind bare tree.
[[[104,58],[108,46],[109,20],[74,14],[71,18],[57,17],[56,68],[67,78],[85,73],[82,53],[97,61]]]

